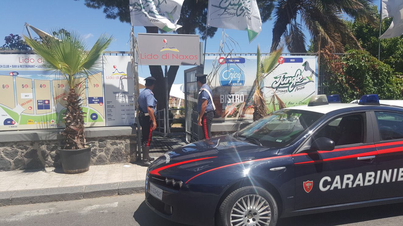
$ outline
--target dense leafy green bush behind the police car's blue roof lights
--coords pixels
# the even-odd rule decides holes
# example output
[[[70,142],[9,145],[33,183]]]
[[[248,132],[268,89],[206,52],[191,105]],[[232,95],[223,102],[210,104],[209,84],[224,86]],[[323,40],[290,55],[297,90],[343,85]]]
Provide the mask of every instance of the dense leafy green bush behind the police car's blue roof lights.
[[[380,99],[402,99],[403,81],[394,70],[378,61],[365,50],[349,50],[341,59],[343,72],[330,69],[334,59],[325,60],[328,72],[332,73],[326,86],[329,93],[340,94],[342,102],[359,99],[364,94],[378,94]]]

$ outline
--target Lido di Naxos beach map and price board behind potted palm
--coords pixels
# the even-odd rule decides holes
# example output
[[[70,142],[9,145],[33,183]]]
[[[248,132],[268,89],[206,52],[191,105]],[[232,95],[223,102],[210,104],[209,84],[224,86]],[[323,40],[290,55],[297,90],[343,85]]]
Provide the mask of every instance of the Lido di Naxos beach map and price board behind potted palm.
[[[133,78],[127,76],[132,74],[127,70],[130,57],[123,57],[104,56],[107,68],[100,67],[88,78],[75,79],[83,111],[87,113],[86,127],[133,124],[134,91],[128,85],[133,84]],[[125,67],[118,68],[123,60]],[[63,128],[68,92],[64,76],[43,68],[43,59],[38,55],[0,54],[0,131]]]

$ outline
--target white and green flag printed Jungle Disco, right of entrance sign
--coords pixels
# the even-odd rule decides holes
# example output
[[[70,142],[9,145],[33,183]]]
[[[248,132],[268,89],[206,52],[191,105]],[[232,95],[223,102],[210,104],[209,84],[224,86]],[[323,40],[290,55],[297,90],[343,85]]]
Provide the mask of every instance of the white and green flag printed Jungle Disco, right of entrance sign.
[[[262,31],[256,0],[209,0],[207,25],[247,31],[249,43]]]

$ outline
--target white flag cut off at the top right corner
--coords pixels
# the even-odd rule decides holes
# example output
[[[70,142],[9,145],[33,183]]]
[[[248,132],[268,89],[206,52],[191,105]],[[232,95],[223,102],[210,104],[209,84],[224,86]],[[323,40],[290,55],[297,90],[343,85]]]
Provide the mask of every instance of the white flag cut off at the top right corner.
[[[388,39],[399,37],[403,34],[403,0],[382,0],[381,2],[382,19],[392,17],[391,26],[380,37]]]

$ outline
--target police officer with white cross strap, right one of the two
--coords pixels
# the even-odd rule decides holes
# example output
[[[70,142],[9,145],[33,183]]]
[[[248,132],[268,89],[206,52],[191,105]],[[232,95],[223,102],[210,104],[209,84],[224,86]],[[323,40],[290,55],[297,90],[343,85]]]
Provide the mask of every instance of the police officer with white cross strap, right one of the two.
[[[212,92],[206,84],[207,74],[196,74],[195,76],[200,88],[197,99],[197,112],[199,113],[197,125],[203,127],[203,137],[208,139],[211,138],[211,121],[214,118],[213,110],[215,110],[214,103],[212,103]]]

